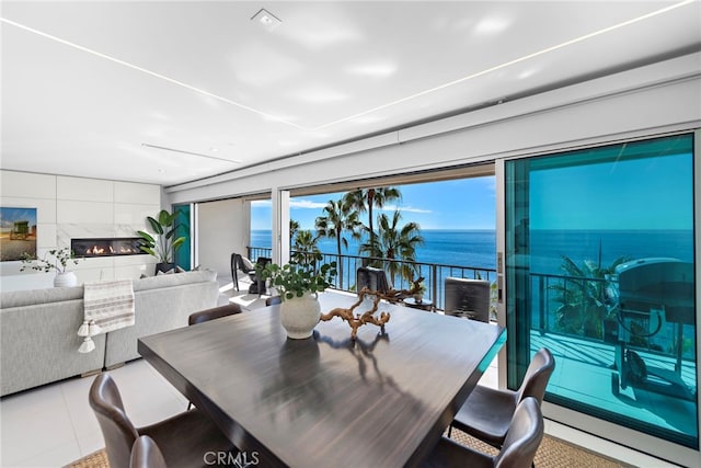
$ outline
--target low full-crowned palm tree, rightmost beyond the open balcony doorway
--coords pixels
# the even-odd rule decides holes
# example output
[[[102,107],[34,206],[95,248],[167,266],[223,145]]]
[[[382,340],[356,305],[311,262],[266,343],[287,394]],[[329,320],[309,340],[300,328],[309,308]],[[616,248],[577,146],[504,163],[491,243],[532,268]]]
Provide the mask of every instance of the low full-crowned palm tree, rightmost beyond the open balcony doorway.
[[[399,226],[402,215],[399,210],[394,210],[392,219],[382,213],[377,217],[378,235],[371,237],[368,242],[360,246],[360,252],[369,254],[369,256],[379,256],[391,260],[416,260],[416,247],[424,243],[421,236],[421,226],[417,222],[407,222]],[[394,276],[400,274],[403,278],[411,281],[414,278],[414,267],[400,263],[389,262],[388,271],[392,283]]]

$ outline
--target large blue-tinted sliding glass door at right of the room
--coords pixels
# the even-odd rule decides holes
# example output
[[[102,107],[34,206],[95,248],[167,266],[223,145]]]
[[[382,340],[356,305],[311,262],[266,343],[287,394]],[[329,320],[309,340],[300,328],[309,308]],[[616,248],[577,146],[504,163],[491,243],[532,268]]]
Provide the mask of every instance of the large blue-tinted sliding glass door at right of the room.
[[[699,447],[693,135],[505,162],[508,386]]]

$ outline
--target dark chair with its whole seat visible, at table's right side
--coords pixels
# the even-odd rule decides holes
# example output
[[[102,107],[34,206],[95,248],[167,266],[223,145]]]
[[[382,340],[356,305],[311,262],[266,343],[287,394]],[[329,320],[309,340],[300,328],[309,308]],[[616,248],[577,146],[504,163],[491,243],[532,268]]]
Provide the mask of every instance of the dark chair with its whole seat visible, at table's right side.
[[[517,391],[478,385],[452,420],[448,436],[456,427],[487,444],[502,446],[518,403],[532,397],[540,404],[554,368],[554,357],[543,347],[533,356]]]

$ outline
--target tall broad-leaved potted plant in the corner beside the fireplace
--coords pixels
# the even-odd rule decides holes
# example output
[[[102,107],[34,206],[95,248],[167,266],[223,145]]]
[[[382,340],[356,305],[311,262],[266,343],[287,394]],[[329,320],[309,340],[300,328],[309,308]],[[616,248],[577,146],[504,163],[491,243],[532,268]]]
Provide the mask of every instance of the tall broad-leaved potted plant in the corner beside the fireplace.
[[[146,220],[149,222],[153,233],[147,231],[137,231],[141,237],[141,250],[156,256],[158,263],[156,264],[156,273],[169,272],[175,267],[173,261],[175,251],[185,242],[185,237],[175,237],[177,227],[175,226],[175,218],[179,212],[168,213],[165,209],[161,209],[158,214],[158,218],[147,216]]]

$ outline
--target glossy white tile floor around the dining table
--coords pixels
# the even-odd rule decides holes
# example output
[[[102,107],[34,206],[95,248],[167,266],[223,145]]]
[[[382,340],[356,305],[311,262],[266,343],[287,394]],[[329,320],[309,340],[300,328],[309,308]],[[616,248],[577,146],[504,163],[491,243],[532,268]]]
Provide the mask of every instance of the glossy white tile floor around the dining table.
[[[222,285],[220,304],[231,296],[231,283]],[[255,297],[243,297],[251,304]],[[160,421],[184,411],[187,400],[141,359],[110,370],[129,418],[138,425]],[[97,421],[88,403],[94,377],[72,378],[11,395],[0,400],[0,467],[61,467],[102,447]],[[496,362],[484,374],[482,385],[497,385]],[[595,452],[640,467],[669,467],[634,450],[578,433],[551,421],[547,432],[574,441]]]

